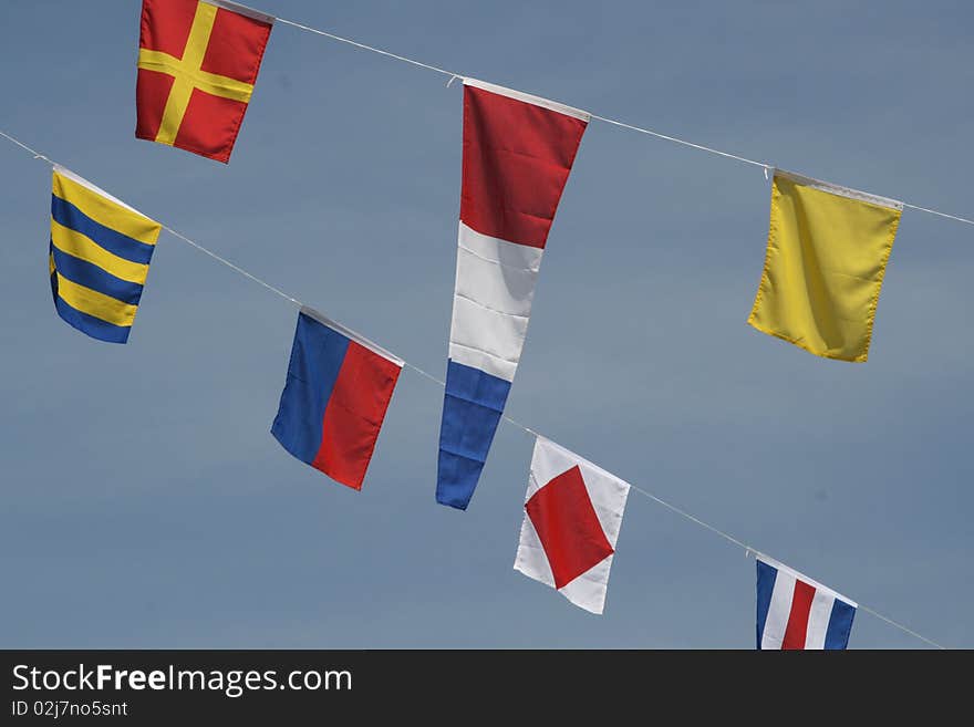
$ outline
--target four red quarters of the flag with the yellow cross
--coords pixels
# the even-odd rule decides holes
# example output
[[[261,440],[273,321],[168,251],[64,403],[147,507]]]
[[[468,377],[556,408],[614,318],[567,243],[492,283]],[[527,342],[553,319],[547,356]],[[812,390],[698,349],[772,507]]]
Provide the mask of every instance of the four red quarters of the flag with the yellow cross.
[[[183,59],[197,4],[197,0],[143,0],[139,48]],[[255,84],[270,31],[269,23],[218,8],[203,63],[196,71]],[[167,73],[138,70],[137,138],[155,141],[173,84],[174,77]],[[195,89],[173,146],[228,162],[247,106]]]

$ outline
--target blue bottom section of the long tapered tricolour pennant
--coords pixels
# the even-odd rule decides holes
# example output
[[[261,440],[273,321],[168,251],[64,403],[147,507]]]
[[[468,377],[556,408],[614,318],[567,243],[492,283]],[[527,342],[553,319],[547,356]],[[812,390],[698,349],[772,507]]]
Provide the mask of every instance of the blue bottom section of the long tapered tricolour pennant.
[[[436,501],[441,505],[467,509],[509,393],[508,381],[454,361],[447,363],[436,474]]]

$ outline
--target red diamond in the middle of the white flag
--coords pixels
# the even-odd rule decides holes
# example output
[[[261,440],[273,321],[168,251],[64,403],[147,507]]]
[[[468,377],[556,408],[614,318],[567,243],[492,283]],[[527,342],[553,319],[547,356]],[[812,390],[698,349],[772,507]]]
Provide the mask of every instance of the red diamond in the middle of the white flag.
[[[571,583],[615,552],[605,538],[578,466],[535,492],[525,509],[545,548],[556,589]]]

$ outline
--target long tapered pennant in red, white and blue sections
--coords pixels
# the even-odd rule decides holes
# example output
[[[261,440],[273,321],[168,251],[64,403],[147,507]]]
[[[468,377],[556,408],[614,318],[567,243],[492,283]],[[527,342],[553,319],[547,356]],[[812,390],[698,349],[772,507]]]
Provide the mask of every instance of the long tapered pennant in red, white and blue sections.
[[[464,80],[456,290],[436,500],[466,509],[520,360],[548,231],[589,114]]]

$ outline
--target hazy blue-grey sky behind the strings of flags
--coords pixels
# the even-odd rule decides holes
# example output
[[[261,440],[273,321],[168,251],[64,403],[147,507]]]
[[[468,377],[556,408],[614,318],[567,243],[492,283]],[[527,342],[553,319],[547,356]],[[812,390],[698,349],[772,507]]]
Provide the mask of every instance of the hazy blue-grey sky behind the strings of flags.
[[[442,376],[460,87],[274,28],[228,167],[134,138],[135,0],[7,0],[0,128]],[[965,2],[265,0],[442,67],[971,216]],[[2,142],[2,139],[0,139]],[[0,144],[0,644],[749,648],[755,567],[633,492],[605,615],[511,568],[532,440],[434,502],[406,371],[362,492],[269,434],[296,311],[164,232],[128,345],[54,313],[50,172]],[[906,210],[870,361],[750,329],[760,169],[593,122],[508,414],[949,646],[974,647],[970,226]],[[924,644],[860,612],[850,647]]]

